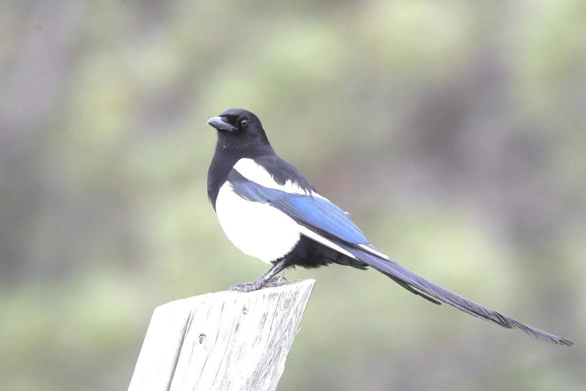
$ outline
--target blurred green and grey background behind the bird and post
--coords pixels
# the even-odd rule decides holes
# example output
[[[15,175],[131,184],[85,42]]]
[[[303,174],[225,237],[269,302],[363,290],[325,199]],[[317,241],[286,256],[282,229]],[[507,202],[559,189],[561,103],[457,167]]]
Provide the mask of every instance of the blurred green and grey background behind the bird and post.
[[[207,201],[216,134],[273,147],[411,270],[315,278],[280,390],[582,390],[586,2],[0,4],[0,384],[125,390],[152,310],[267,270]]]

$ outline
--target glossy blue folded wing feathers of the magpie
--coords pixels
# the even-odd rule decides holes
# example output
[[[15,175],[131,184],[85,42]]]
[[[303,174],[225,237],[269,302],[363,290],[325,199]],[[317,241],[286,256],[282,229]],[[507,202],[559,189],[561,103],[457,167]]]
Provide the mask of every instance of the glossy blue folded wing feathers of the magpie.
[[[234,169],[228,175],[228,181],[240,197],[254,202],[266,202],[299,224],[326,237],[339,239],[349,244],[369,244],[364,234],[346,213],[326,199],[265,188],[244,178]]]

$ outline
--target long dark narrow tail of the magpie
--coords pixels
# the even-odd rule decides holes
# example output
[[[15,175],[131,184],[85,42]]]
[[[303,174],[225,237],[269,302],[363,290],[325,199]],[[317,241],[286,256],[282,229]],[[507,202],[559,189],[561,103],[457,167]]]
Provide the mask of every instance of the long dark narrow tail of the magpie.
[[[560,338],[553,334],[549,334],[548,332],[534,328],[530,325],[518,322],[513,318],[509,318],[506,315],[499,314],[499,312],[490,310],[490,308],[484,307],[483,305],[473,302],[472,300],[468,300],[467,298],[449,291],[438,284],[432,283],[430,280],[426,280],[425,278],[418,276],[417,274],[407,270],[393,260],[381,259],[377,256],[374,256],[373,254],[367,253],[364,250],[352,247],[349,244],[341,244],[341,246],[343,249],[347,250],[349,253],[353,254],[364,263],[372,266],[381,273],[386,274],[386,276],[392,278],[407,290],[421,295],[431,302],[441,304],[440,302],[431,298],[434,297],[449,305],[453,305],[459,310],[468,312],[470,315],[481,318],[495,325],[499,325],[500,327],[517,329],[526,334],[529,334],[530,336],[533,336],[534,338],[542,339],[543,341],[551,342],[553,344],[565,346],[574,345],[574,342],[570,342],[567,339]]]

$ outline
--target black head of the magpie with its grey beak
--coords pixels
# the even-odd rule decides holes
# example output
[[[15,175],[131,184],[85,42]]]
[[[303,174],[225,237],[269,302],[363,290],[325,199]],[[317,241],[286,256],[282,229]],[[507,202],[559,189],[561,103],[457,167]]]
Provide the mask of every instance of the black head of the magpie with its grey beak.
[[[250,111],[230,108],[210,118],[207,124],[217,129],[219,148],[236,151],[271,148],[263,124]]]

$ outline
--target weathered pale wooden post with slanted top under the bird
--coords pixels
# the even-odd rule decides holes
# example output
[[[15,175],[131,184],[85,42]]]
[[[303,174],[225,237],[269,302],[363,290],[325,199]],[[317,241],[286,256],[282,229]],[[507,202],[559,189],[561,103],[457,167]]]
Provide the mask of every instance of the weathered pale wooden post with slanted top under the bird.
[[[314,283],[155,308],[128,390],[274,390]]]

